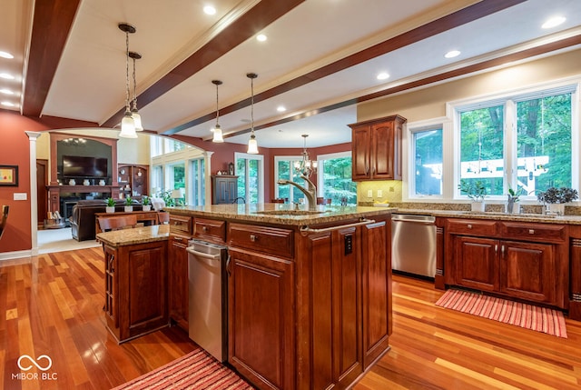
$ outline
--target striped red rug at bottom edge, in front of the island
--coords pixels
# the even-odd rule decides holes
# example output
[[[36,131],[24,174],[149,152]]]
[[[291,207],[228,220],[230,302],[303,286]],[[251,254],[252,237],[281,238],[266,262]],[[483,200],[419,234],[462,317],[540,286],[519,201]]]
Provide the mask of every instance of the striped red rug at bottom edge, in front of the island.
[[[253,388],[230,368],[214,359],[212,355],[202,349],[196,349],[113,390],[246,390]]]

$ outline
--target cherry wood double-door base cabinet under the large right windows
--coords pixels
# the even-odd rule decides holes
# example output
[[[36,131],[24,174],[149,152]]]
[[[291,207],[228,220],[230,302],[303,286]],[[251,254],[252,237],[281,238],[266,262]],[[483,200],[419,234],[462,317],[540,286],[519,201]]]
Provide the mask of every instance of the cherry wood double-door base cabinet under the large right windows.
[[[566,226],[448,219],[446,283],[567,308]]]

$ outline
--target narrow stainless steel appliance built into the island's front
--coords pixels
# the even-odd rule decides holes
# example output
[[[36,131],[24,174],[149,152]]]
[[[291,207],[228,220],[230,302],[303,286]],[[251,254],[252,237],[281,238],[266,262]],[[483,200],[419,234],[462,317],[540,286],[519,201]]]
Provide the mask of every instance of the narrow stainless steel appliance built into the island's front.
[[[228,358],[226,246],[190,240],[188,247],[189,335],[220,362]]]

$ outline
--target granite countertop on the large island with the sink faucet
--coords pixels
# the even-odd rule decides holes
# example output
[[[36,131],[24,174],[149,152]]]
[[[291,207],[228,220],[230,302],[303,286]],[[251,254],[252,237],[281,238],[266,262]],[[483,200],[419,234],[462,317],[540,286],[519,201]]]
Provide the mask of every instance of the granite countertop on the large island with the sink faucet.
[[[252,204],[252,205],[201,205],[164,207],[170,214],[205,216],[229,221],[261,222],[278,225],[317,225],[339,222],[345,219],[372,218],[374,215],[386,215],[396,208],[373,206],[340,206],[318,205],[316,211],[309,211],[305,206],[299,210],[287,204]]]

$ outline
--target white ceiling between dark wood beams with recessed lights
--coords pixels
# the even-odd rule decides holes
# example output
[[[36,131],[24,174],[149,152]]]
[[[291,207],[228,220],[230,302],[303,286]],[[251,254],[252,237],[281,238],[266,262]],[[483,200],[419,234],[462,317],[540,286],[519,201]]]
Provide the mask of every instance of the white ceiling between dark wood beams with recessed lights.
[[[152,89],[159,90],[163,76],[162,80],[172,80],[181,74],[178,65],[203,45],[219,42],[223,32],[234,28],[232,23],[244,19],[244,15],[248,20],[259,5],[274,6],[277,1],[81,0],[40,116],[102,125],[118,115],[125,98],[125,35],[117,27],[122,22],[137,29],[129,36],[129,43],[130,50],[143,55],[136,65],[137,93],[147,130],[210,138],[216,109],[212,80],[219,79],[223,82],[219,90],[221,110],[239,107],[231,107],[220,117],[226,142],[245,144],[251,118],[251,80],[246,74],[253,72],[258,74],[254,80],[255,126],[274,124],[256,132],[259,146],[264,147],[301,147],[302,134],[310,135],[310,147],[350,142],[347,125],[357,121],[354,102],[360,96],[581,35],[579,0],[528,0],[491,15],[478,15],[464,24],[451,17],[438,25],[451,23],[453,28],[443,28],[441,33],[422,39],[413,34],[399,39],[398,35],[470,5],[478,3],[478,12],[482,12],[488,5],[509,0],[308,0],[252,34],[241,29],[240,44],[215,59],[210,52],[207,57],[199,57],[197,63],[187,64],[199,69],[186,74],[168,92],[154,95],[151,103],[140,104],[140,98],[142,102],[147,100],[144,95]],[[216,15],[203,14],[203,5],[212,2]],[[0,74],[16,76],[12,81],[0,78],[0,90],[15,91],[15,95],[0,94],[0,102],[12,101],[15,107],[2,108],[21,110],[27,104],[25,88],[35,87],[32,81],[26,83],[31,79],[26,61],[34,47],[31,39],[39,36],[31,30],[34,9],[38,12],[40,5],[33,0],[0,0],[0,9],[0,51],[15,55],[12,60],[0,57]],[[540,25],[554,15],[566,16],[566,22],[542,29]],[[51,34],[52,30],[46,31]],[[259,33],[267,35],[268,40],[258,42],[255,36]],[[338,65],[344,58],[386,41],[387,45],[398,45],[392,50],[379,50],[379,55],[369,55],[369,60],[359,64]],[[451,49],[460,50],[461,55],[445,58],[443,55]],[[34,52],[30,57],[34,58]],[[334,65],[338,65],[336,71],[318,74]],[[379,72],[388,72],[389,79],[377,80]],[[285,86],[298,83],[304,76],[312,81]],[[286,106],[287,111],[278,113],[279,105]],[[340,108],[330,109],[335,106]],[[326,112],[317,114],[320,111]],[[295,117],[303,118],[291,120]]]

